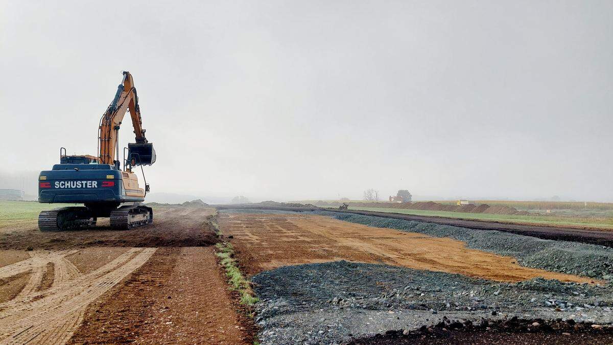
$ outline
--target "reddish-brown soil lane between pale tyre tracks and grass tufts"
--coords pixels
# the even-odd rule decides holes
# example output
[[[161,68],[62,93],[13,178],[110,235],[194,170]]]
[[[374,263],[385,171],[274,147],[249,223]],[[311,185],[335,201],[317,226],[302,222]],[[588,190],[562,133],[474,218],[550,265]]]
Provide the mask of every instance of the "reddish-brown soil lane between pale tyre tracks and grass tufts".
[[[89,306],[70,343],[253,343],[212,247],[163,248]]]

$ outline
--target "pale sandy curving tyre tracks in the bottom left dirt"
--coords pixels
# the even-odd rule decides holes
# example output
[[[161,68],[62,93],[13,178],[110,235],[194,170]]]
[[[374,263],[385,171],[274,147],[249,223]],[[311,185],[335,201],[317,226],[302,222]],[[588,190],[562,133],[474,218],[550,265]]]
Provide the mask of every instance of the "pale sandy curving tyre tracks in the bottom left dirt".
[[[0,303],[0,343],[66,343],[81,324],[87,306],[147,262],[155,251],[155,248],[129,249],[83,276],[64,258],[74,251],[35,255],[28,259],[29,265],[16,263],[10,265],[12,268],[0,270],[0,274],[10,274],[33,269],[28,289],[13,300]],[[48,262],[56,267],[57,282],[47,291],[37,292]]]

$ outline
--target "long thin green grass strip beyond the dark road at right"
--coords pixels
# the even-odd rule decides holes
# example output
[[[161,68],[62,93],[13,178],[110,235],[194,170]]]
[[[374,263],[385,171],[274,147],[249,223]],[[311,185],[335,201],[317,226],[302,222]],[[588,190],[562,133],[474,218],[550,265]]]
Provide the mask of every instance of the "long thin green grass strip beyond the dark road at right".
[[[596,217],[560,217],[555,215],[504,215],[504,214],[485,214],[485,213],[460,213],[447,211],[422,211],[416,209],[391,209],[378,207],[349,207],[353,210],[392,212],[402,214],[427,215],[436,217],[470,219],[470,220],[490,220],[493,222],[504,223],[533,223],[541,225],[571,225],[574,227],[592,227],[613,229],[613,218]]]

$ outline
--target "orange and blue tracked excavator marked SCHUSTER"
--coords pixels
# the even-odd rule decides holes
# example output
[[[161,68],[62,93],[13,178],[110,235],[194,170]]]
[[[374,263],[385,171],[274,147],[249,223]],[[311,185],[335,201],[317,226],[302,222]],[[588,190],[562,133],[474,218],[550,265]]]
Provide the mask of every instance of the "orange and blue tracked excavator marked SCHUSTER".
[[[119,160],[119,129],[126,111],[130,112],[136,142],[123,152],[123,169]],[[126,156],[126,151],[128,155]],[[98,156],[67,155],[59,150],[59,164],[39,175],[39,203],[77,203],[78,207],[61,207],[39,214],[42,231],[76,230],[93,227],[99,217],[109,217],[113,228],[129,229],[153,223],[153,210],[141,204],[149,192],[139,187],[132,168],[152,165],[156,160],[153,144],[145,138],[140,117],[139,98],[134,80],[123,72],[123,80],[112,103],[102,115],[98,128]],[[133,203],[121,206],[122,203]]]

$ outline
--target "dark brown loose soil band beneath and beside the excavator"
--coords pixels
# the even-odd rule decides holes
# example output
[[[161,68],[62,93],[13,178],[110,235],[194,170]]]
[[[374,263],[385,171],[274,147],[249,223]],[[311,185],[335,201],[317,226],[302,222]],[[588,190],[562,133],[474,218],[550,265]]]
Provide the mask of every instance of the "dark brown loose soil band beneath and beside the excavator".
[[[111,230],[108,226],[52,232],[39,231],[37,225],[4,228],[0,232],[0,249],[210,246],[216,242],[215,234],[202,231],[202,223],[214,212],[212,208],[156,207],[152,225],[126,231]]]

